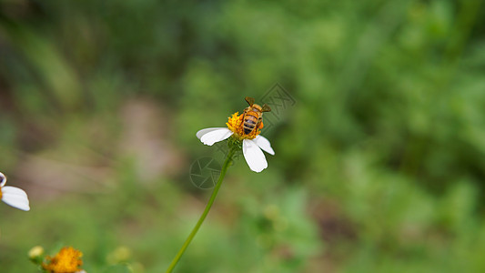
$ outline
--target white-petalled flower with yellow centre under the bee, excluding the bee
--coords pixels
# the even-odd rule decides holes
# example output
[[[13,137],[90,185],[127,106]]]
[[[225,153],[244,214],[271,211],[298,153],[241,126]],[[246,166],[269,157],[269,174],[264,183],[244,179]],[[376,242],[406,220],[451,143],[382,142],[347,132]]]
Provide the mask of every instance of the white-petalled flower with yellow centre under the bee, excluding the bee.
[[[242,144],[244,158],[252,171],[260,172],[267,168],[268,162],[261,149],[270,155],[275,155],[275,151],[266,137],[259,136],[259,129],[263,127],[262,122],[249,134],[245,134],[244,114],[238,115],[238,113],[235,113],[229,117],[226,125],[227,127],[202,129],[196,135],[202,143],[208,146],[232,136],[237,142]]]

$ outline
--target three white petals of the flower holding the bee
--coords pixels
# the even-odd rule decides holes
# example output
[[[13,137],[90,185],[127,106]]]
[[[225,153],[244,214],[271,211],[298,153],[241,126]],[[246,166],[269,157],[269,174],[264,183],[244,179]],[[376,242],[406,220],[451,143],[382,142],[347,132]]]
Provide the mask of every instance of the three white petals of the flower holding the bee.
[[[197,137],[205,145],[212,146],[214,143],[227,139],[234,133],[226,127],[206,128],[197,132]],[[254,139],[243,139],[243,155],[252,171],[260,172],[268,167],[268,162],[263,154],[264,150],[270,155],[275,155],[268,139],[264,136],[256,136]]]

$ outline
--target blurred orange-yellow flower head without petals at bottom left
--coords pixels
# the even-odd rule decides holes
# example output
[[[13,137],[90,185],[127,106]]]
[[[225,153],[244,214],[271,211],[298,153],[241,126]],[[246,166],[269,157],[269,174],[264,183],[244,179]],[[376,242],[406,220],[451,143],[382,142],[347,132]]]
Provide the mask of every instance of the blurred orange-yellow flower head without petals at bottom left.
[[[54,258],[47,257],[47,263],[42,267],[49,273],[75,273],[83,265],[83,253],[75,248],[62,248]]]

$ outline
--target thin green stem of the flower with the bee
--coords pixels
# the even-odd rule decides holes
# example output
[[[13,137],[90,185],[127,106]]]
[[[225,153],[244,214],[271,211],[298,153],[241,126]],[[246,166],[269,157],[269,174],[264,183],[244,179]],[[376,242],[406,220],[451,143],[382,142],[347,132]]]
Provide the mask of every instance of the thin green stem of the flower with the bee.
[[[194,237],[196,237],[198,228],[200,226],[202,226],[202,223],[206,219],[207,214],[210,210],[210,207],[212,207],[212,204],[214,204],[214,200],[217,197],[217,192],[219,191],[219,188],[222,185],[222,180],[226,176],[227,168],[229,167],[232,156],[234,156],[235,152],[236,152],[236,150],[234,148],[229,148],[229,153],[227,154],[226,161],[224,162],[224,165],[222,166],[222,169],[220,170],[219,179],[217,180],[216,187],[214,187],[214,190],[212,191],[212,195],[210,196],[210,198],[208,200],[206,209],[204,209],[204,212],[202,213],[202,215],[200,216],[200,218],[197,221],[196,227],[194,227],[192,229],[192,232],[190,232],[190,234],[188,235],[186,242],[184,243],[182,248],[180,248],[180,250],[178,250],[177,256],[172,260],[172,263],[170,264],[170,267],[168,267],[166,273],[170,273],[170,272],[172,272],[172,270],[174,270],[174,268],[177,266],[178,260],[182,257],[184,252],[186,252],[186,249],[187,249],[188,245],[190,244],[190,242],[192,241],[192,239]]]

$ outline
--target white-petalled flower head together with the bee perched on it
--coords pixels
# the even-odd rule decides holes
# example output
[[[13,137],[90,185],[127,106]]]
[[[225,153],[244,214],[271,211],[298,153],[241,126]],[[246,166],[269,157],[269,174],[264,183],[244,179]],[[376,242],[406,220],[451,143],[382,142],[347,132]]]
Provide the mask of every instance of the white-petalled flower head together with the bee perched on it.
[[[197,137],[205,145],[212,146],[214,143],[227,138],[229,143],[242,148],[242,152],[249,168],[260,172],[268,167],[268,162],[263,154],[264,150],[270,155],[275,155],[268,139],[259,136],[263,128],[263,113],[271,111],[268,105],[259,106],[255,99],[247,96],[249,106],[239,115],[238,112],[228,118],[227,127],[211,127],[197,132]]]

